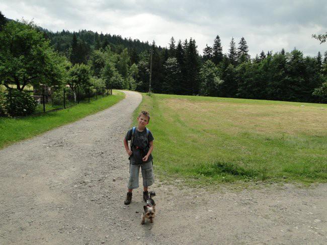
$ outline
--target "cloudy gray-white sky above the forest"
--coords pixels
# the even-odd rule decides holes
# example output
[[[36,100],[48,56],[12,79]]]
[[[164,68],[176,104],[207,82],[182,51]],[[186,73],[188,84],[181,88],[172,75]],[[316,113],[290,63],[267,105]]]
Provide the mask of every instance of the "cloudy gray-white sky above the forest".
[[[236,44],[244,37],[251,56],[260,53],[291,51],[315,56],[327,50],[313,33],[327,31],[327,1],[135,1],[74,0],[17,1],[2,0],[0,11],[10,19],[34,20],[51,31],[87,29],[119,34],[141,41],[155,40],[168,46],[169,40],[196,40],[199,53],[212,46],[216,35],[227,53],[231,37]]]

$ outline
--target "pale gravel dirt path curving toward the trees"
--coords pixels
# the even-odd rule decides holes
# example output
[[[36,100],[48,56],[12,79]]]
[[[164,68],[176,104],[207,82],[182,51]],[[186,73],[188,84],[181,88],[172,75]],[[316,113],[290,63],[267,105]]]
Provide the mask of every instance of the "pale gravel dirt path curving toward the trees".
[[[156,182],[157,217],[141,225],[141,189],[123,204],[122,145],[141,96],[125,93],[105,111],[0,150],[0,244],[327,242],[326,184],[206,192]]]

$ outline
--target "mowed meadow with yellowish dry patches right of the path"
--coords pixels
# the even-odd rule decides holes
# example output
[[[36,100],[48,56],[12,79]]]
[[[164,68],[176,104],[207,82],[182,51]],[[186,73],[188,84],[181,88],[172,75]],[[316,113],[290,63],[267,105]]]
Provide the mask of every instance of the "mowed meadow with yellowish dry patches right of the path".
[[[327,105],[143,94],[159,176],[193,184],[326,182]]]

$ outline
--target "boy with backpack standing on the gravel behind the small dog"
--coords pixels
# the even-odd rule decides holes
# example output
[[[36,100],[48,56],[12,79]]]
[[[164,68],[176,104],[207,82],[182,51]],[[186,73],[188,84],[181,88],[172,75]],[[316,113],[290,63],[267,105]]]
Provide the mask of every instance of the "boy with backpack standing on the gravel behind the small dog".
[[[150,121],[150,115],[146,111],[142,111],[137,117],[137,127],[131,128],[127,131],[124,138],[124,146],[127,154],[129,155],[129,181],[128,192],[125,205],[128,205],[132,201],[132,191],[138,188],[138,175],[141,167],[143,178],[143,200],[149,198],[148,186],[151,186],[153,180],[153,168],[152,168],[152,155],[153,150],[153,136],[150,130],[145,126]],[[133,133],[134,131],[134,133]],[[128,140],[131,140],[131,149],[128,148]]]

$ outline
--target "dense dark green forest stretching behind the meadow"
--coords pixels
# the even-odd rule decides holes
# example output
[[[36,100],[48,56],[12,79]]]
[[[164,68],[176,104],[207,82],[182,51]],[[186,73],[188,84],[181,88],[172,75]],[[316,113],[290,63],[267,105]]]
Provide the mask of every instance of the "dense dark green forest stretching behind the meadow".
[[[309,57],[297,49],[281,49],[250,57],[244,37],[238,42],[231,38],[228,53],[223,53],[217,35],[200,54],[192,37],[172,37],[167,47],[160,47],[155,41],[87,30],[37,29],[70,66],[87,66],[90,79],[111,88],[148,92],[151,63],[153,93],[327,102],[327,51]]]

